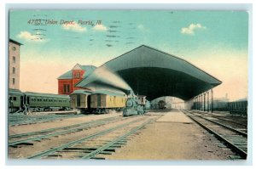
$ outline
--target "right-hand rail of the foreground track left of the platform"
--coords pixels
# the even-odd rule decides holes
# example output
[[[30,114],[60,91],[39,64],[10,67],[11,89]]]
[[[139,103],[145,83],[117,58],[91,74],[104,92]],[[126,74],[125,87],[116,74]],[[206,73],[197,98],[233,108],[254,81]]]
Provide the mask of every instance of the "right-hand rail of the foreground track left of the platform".
[[[114,139],[113,141],[109,142],[108,144],[102,145],[102,147],[100,147],[100,148],[98,148],[98,149],[96,149],[96,150],[90,152],[90,154],[84,155],[84,156],[82,157],[82,159],[90,159],[91,157],[94,157],[95,155],[101,153],[101,152],[104,151],[105,149],[108,149],[109,147],[113,146],[113,144],[117,144],[117,143],[119,143],[122,139],[124,139],[124,138],[130,136],[131,134],[133,134],[133,133],[135,133],[135,132],[137,132],[138,130],[140,130],[141,128],[145,127],[148,123],[150,123],[150,122],[152,122],[152,121],[154,121],[154,120],[153,120],[153,119],[148,120],[148,121],[144,122],[142,125],[131,129],[130,132],[125,133],[124,135],[120,136],[119,138]]]

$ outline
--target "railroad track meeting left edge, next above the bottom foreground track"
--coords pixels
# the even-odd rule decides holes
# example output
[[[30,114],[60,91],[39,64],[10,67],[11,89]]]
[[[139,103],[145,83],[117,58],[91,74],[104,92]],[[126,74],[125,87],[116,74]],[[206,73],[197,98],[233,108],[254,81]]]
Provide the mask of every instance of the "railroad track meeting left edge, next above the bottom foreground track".
[[[114,121],[120,121],[123,118],[121,116],[108,117],[96,121],[89,121],[84,123],[79,123],[75,125],[65,126],[65,127],[54,127],[36,132],[25,132],[9,136],[9,146],[16,147],[17,145],[32,145],[33,141],[39,141],[42,139],[61,136],[64,134],[69,134],[73,132],[79,132],[82,130],[89,129],[90,127],[99,127]]]

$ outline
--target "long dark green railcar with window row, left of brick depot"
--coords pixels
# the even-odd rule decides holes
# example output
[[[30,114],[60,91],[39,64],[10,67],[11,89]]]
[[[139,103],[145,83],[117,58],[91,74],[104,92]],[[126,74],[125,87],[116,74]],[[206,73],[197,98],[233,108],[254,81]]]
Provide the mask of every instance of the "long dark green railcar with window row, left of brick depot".
[[[68,95],[26,92],[24,99],[26,109],[29,111],[70,109],[70,97]]]

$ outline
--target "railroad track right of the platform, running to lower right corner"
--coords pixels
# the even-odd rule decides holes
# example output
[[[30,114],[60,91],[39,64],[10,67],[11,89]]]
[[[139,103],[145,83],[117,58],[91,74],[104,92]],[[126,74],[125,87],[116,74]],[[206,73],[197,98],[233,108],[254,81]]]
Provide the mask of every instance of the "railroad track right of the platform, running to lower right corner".
[[[228,127],[217,121],[212,121],[203,115],[195,115],[191,111],[183,110],[193,121],[214,134],[216,138],[224,142],[230,149],[236,151],[242,159],[247,158],[247,133]]]

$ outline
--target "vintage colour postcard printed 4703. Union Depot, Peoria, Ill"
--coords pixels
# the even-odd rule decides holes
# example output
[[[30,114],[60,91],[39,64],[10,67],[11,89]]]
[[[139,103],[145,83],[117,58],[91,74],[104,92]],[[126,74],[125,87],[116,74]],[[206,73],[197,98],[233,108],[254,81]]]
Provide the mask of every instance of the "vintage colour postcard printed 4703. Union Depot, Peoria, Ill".
[[[9,160],[246,161],[248,13],[9,10]]]

